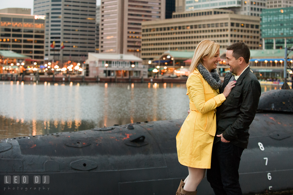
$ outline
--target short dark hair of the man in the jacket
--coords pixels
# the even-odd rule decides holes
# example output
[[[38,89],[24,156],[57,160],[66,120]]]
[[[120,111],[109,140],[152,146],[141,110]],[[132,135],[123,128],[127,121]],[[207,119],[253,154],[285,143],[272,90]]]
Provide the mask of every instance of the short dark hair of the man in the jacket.
[[[235,59],[243,57],[244,61],[246,63],[249,62],[250,50],[249,50],[248,46],[244,42],[233,43],[232,45],[227,47],[227,50],[232,50],[233,51],[232,56]]]

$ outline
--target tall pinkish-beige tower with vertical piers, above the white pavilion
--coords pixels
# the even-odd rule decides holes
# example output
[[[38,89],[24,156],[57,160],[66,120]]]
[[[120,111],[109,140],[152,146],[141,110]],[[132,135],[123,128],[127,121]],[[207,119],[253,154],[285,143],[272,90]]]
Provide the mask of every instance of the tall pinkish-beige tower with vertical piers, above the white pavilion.
[[[99,51],[140,57],[141,23],[165,19],[165,0],[102,0]]]

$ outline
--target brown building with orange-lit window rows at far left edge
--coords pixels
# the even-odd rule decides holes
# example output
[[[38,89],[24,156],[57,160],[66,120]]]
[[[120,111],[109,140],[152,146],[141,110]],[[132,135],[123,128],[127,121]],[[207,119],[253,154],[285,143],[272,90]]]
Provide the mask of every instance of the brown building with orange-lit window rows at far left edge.
[[[31,9],[0,9],[0,50],[11,50],[34,60],[44,59],[45,16]]]

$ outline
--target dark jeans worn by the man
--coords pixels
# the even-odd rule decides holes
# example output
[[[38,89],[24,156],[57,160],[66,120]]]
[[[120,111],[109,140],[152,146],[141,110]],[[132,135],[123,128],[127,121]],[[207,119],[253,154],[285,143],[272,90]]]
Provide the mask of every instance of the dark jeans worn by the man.
[[[241,195],[238,168],[244,148],[232,143],[217,142],[212,150],[211,168],[207,179],[215,195]]]

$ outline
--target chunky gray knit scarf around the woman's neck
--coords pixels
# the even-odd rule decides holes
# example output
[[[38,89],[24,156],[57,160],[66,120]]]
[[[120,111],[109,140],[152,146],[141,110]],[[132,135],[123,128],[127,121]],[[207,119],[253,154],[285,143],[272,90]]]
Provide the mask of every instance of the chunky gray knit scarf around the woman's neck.
[[[201,63],[197,65],[197,69],[213,89],[217,90],[220,87],[221,79],[217,69],[209,72]]]

